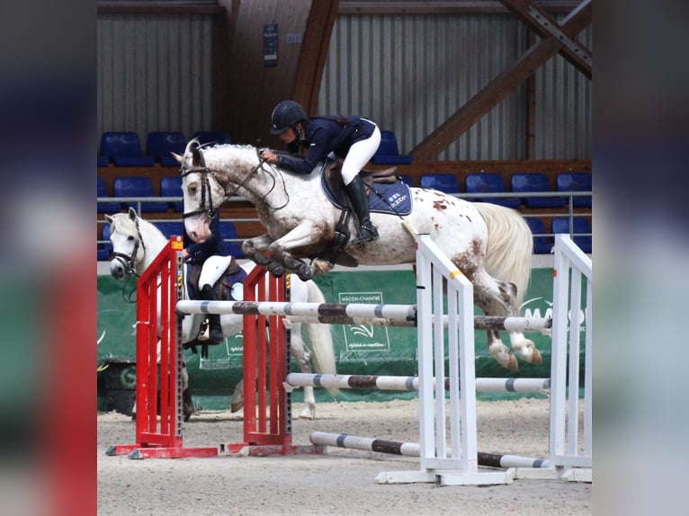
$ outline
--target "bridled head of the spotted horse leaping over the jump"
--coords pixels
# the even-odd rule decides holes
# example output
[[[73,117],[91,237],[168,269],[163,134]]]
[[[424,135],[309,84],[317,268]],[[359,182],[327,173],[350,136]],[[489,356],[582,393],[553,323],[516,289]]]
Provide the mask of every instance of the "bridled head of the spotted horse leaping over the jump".
[[[227,197],[225,186],[218,173],[206,166],[206,160],[197,139],[184,149],[184,156],[174,155],[180,164],[184,200],[184,229],[194,242],[203,242],[210,236],[210,219]]]

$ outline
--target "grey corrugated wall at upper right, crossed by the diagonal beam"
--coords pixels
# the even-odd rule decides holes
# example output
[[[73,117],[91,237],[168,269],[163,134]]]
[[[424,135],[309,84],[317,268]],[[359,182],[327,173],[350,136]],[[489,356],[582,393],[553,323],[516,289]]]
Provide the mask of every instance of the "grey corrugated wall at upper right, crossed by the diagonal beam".
[[[318,111],[369,116],[408,152],[512,66],[526,34],[511,14],[338,15]],[[565,65],[540,72],[536,158],[590,157],[590,81]],[[525,113],[520,86],[438,158],[523,159]]]

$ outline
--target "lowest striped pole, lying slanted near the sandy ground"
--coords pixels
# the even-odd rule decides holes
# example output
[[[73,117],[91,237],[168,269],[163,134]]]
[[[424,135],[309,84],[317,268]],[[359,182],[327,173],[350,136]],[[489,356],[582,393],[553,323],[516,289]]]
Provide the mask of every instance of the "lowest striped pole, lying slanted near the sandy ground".
[[[401,442],[397,440],[372,439],[346,433],[329,433],[313,431],[309,436],[312,444],[331,446],[345,449],[361,449],[405,457],[419,457],[421,448],[416,442]],[[479,465],[487,467],[550,467],[550,463],[542,458],[521,457],[519,455],[500,455],[497,453],[478,452]]]

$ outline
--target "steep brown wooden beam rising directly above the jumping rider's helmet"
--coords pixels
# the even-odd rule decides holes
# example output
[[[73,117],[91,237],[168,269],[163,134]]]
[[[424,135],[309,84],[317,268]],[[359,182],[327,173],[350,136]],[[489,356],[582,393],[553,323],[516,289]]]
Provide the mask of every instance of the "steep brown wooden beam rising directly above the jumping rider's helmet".
[[[300,102],[308,113],[315,112],[318,105],[320,83],[339,3],[339,0],[313,0],[311,3],[291,94],[291,99]]]

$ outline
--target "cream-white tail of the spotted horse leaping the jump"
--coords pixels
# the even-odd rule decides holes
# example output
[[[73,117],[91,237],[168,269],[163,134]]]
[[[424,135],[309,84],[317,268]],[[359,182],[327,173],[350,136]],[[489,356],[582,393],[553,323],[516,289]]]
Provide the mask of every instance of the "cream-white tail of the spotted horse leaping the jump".
[[[475,202],[474,206],[488,226],[486,271],[497,280],[514,283],[517,306],[521,306],[531,278],[531,228],[514,209],[489,202]]]

